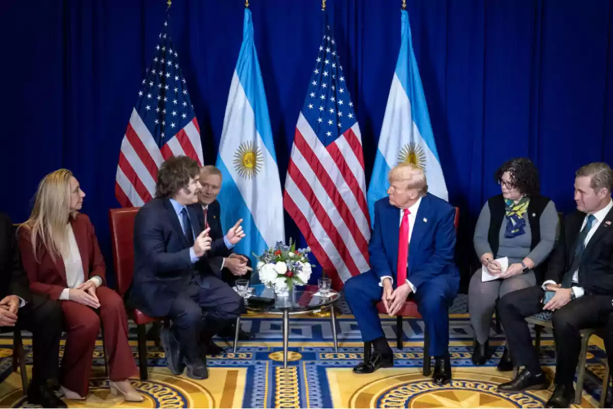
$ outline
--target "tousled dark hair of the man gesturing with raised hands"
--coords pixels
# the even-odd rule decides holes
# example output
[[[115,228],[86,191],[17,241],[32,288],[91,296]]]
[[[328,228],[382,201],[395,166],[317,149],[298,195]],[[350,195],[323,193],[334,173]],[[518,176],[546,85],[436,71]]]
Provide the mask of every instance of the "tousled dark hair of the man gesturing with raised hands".
[[[155,196],[162,199],[174,197],[181,188],[189,185],[191,178],[200,173],[198,162],[188,156],[172,156],[162,163],[158,170]]]

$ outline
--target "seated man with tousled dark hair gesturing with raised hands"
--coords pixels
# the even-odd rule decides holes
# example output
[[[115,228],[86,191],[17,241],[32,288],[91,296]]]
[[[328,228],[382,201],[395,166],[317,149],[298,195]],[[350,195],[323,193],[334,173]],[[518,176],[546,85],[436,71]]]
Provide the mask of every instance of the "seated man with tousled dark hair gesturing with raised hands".
[[[240,315],[243,299],[204,268],[211,249],[209,229],[204,229],[202,212],[190,206],[198,202],[199,172],[197,162],[186,156],[170,158],[160,167],[156,198],[139,210],[134,222],[131,302],[149,316],[172,321],[172,328],[161,332],[170,371],[180,375],[187,367],[189,377],[206,379],[206,351],[200,348]],[[239,229],[234,234],[244,233]]]

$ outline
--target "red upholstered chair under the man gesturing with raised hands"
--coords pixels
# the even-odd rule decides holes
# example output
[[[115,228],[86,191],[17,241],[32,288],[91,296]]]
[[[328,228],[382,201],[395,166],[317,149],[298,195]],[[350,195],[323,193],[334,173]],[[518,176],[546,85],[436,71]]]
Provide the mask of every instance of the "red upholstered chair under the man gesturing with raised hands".
[[[117,277],[117,292],[123,297],[132,285],[134,277],[134,219],[139,208],[112,208],[109,210],[111,242],[113,245],[113,263]],[[139,348],[140,379],[145,381],[147,374],[147,332],[145,324],[162,321],[127,308],[128,317],[137,325]],[[165,324],[167,325],[167,321]]]

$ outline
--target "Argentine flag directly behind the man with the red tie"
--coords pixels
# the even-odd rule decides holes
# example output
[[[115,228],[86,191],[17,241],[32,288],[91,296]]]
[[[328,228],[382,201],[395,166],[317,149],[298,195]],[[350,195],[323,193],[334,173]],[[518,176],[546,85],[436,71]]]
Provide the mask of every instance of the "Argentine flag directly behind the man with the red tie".
[[[375,202],[387,196],[387,174],[399,162],[413,162],[424,169],[428,192],[447,200],[447,186],[436,151],[406,10],[402,10],[400,53],[387,98],[375,166],[368,186],[370,220],[375,220]]]

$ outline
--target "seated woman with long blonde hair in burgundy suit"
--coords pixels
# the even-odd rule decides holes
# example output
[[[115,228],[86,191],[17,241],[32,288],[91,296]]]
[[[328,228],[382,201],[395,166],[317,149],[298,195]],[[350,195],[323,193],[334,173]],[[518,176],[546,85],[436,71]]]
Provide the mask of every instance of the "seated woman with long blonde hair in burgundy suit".
[[[86,399],[94,345],[101,324],[113,395],[142,402],[129,377],[137,373],[128,345],[123,300],[105,286],[104,259],[94,227],[79,213],[85,193],[70,170],[51,172],[40,182],[34,210],[18,231],[23,267],[32,292],[60,300],[68,333],[60,371],[67,399]]]

